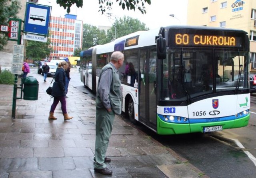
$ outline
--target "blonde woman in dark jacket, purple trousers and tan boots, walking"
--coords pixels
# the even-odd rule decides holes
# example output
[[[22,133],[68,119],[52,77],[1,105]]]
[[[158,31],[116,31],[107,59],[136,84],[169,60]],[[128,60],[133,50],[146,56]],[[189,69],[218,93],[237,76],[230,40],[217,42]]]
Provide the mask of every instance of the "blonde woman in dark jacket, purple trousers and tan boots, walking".
[[[66,98],[65,98],[66,72],[65,70],[67,68],[68,68],[68,64],[66,63],[66,61],[59,62],[58,68],[56,69],[56,73],[54,76],[54,83],[52,86],[52,96],[54,99],[53,99],[53,103],[50,110],[50,116],[48,119],[53,119],[53,120],[57,119],[56,117],[54,117],[54,110],[58,105],[59,101],[61,103],[61,110],[64,116],[64,120],[69,120],[73,118],[68,116],[67,108],[66,108]]]

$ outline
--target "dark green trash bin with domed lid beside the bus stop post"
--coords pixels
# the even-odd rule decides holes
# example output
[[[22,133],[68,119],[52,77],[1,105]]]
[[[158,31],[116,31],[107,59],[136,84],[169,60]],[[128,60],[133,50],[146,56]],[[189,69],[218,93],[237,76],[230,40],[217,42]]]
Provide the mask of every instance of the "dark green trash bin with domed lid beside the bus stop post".
[[[38,81],[33,76],[28,76],[23,81],[23,99],[24,100],[37,100],[38,99]]]

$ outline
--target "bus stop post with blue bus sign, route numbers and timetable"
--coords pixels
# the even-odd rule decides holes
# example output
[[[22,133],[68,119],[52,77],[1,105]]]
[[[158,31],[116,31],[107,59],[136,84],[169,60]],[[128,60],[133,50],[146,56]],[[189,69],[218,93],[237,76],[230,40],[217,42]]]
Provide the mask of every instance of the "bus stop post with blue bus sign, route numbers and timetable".
[[[51,6],[27,2],[23,29],[24,39],[47,42],[47,36],[49,34],[48,28],[50,26],[50,14]],[[22,62],[24,58],[24,46],[20,45],[21,23],[22,20],[20,19],[10,18],[9,27],[1,25],[1,31],[8,32],[8,40],[17,41],[17,45],[14,45],[14,56],[12,63],[12,73],[15,74],[12,100],[12,118],[15,118],[18,74],[21,74]],[[22,99],[22,94],[21,98],[18,99]]]

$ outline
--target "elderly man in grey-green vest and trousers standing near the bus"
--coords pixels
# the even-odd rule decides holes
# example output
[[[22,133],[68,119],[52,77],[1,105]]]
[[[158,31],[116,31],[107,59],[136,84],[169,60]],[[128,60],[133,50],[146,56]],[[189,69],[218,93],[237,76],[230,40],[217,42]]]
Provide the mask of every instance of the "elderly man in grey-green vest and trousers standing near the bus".
[[[123,62],[124,54],[120,51],[113,52],[110,63],[102,68],[98,82],[94,171],[104,175],[112,174],[112,170],[106,167],[105,162],[111,161],[106,157],[106,151],[115,114],[122,112],[122,91],[118,68]]]

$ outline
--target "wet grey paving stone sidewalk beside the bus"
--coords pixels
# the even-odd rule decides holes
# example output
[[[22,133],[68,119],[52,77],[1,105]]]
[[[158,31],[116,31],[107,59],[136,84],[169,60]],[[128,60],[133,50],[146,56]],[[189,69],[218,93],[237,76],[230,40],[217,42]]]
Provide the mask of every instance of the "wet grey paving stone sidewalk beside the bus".
[[[120,116],[114,121],[107,151],[113,175],[94,173],[94,95],[81,89],[82,83],[70,80],[66,100],[74,118],[64,121],[59,103],[54,113],[58,120],[48,120],[53,99],[45,90],[52,78],[44,82],[39,74],[30,75],[39,82],[38,100],[17,100],[15,119],[13,85],[0,84],[0,178],[207,177]],[[74,77],[74,70],[70,75]]]

